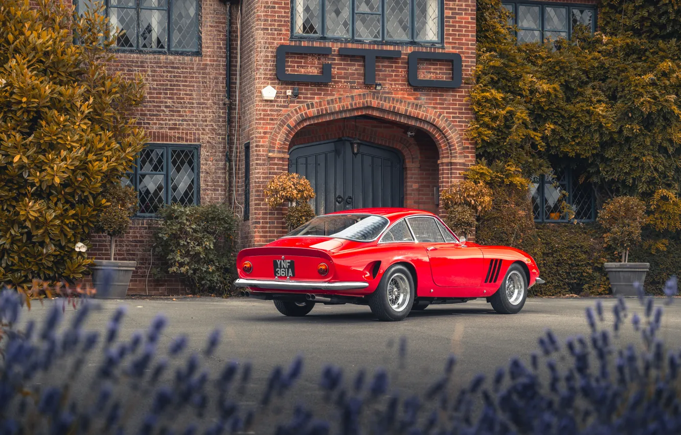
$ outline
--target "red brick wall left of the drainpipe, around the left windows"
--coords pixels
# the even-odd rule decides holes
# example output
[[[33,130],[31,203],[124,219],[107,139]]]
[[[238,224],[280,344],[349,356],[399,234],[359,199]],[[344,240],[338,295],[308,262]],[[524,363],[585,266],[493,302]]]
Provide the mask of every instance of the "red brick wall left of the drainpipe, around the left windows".
[[[144,127],[150,142],[200,145],[201,203],[227,200],[229,188],[225,159],[226,18],[227,6],[223,2],[202,0],[200,56],[120,52],[110,67],[110,72],[128,76],[144,74],[146,97],[134,116],[138,117],[138,125]],[[233,55],[236,55],[236,26],[232,31]],[[138,263],[128,293],[187,293],[186,286],[177,276],[157,280],[149,273],[155,222],[134,219],[128,233],[116,244],[116,260]],[[89,256],[108,259],[108,237],[93,235],[91,241],[93,247]],[[153,266],[159,263],[159,257],[155,256]]]

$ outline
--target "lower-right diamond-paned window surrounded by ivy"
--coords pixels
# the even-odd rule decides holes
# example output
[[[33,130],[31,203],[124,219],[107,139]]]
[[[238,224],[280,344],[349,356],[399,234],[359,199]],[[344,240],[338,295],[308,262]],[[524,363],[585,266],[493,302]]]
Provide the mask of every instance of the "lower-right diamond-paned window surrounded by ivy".
[[[567,203],[575,211],[575,220],[590,222],[596,218],[596,204],[590,183],[580,182],[572,170],[556,170],[554,175],[538,175],[530,181],[530,196],[535,222],[567,222]]]

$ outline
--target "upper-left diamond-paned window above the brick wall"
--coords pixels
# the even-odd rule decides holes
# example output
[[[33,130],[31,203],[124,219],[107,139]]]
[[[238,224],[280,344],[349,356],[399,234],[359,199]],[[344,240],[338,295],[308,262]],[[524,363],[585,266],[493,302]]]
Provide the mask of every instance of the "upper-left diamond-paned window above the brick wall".
[[[78,12],[101,4],[79,0]],[[104,0],[118,50],[197,53],[199,0]]]

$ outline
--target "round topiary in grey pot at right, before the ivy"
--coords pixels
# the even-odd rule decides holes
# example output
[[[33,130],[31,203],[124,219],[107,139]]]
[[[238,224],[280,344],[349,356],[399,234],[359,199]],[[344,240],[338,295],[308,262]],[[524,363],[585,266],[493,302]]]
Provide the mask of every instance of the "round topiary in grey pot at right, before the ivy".
[[[646,205],[633,196],[613,198],[603,205],[598,222],[605,229],[605,245],[622,259],[620,263],[605,263],[613,295],[636,296],[634,284],[644,283],[650,263],[629,263],[629,248],[641,241]]]

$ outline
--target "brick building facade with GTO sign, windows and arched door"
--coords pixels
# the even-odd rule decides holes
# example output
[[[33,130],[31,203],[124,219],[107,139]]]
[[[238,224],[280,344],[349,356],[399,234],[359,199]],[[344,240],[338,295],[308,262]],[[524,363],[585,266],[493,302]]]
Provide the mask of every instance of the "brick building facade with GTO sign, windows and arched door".
[[[263,194],[283,171],[311,180],[318,213],[437,211],[439,190],[475,160],[473,0],[107,0],[106,13],[129,29],[115,70],[147,85],[136,115],[150,145],[130,177],[142,213],[116,254],[138,262],[129,293],[184,291],[149,274],[163,203],[227,202],[241,245],[262,245],[285,234]],[[108,258],[106,238],[93,245]]]

